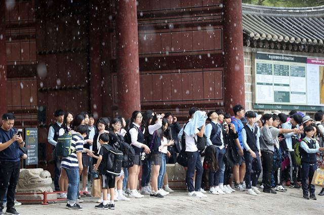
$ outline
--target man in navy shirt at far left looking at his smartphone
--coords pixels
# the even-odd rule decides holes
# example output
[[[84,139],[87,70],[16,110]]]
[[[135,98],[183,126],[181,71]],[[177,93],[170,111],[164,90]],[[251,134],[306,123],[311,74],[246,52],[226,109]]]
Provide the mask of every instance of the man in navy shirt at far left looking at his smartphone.
[[[19,147],[24,147],[25,142],[13,128],[15,119],[12,113],[4,114],[0,128],[0,215],[4,214],[3,200],[7,189],[6,213],[19,214],[14,207],[15,192],[20,172]]]

